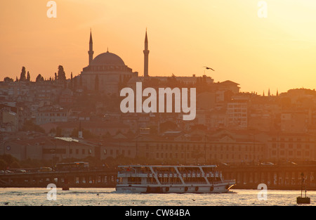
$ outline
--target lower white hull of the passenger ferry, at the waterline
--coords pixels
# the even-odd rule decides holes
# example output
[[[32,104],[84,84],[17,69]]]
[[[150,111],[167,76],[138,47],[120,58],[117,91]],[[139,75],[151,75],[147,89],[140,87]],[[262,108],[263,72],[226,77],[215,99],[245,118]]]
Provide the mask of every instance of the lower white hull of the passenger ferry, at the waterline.
[[[227,193],[234,183],[219,183],[213,186],[120,186],[124,193]]]

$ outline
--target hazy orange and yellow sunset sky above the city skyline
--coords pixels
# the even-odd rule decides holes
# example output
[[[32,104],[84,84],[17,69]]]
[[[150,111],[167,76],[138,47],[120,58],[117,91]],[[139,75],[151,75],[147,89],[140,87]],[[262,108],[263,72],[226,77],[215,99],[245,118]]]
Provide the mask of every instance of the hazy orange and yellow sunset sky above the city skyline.
[[[143,75],[147,27],[149,75],[231,80],[241,91],[262,94],[294,88],[316,89],[316,1],[266,0],[268,18],[258,17],[259,0],[13,0],[0,4],[0,80],[66,77],[109,51]],[[216,72],[204,70],[212,67]]]

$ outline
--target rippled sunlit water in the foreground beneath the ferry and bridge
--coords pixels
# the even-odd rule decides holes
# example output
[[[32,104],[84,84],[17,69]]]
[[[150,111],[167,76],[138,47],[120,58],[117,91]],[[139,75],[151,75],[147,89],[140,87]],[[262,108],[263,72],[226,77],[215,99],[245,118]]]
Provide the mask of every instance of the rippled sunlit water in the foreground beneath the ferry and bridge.
[[[220,194],[118,193],[115,188],[57,188],[56,200],[47,200],[46,188],[0,188],[0,206],[296,206],[300,190],[268,190],[267,200],[258,200],[260,190],[237,190]],[[308,191],[310,205],[316,191]]]

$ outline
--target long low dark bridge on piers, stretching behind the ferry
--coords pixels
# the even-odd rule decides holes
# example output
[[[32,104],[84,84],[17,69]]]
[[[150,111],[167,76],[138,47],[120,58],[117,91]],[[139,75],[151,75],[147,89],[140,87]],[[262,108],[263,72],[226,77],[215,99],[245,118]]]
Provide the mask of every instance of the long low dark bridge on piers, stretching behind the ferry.
[[[307,190],[316,190],[316,165],[238,165],[218,167],[225,179],[235,179],[233,188],[256,189],[265,183],[268,189],[301,190],[302,177]],[[303,176],[301,174],[303,173]],[[0,174],[0,187],[114,188],[117,168],[88,171],[27,172]]]

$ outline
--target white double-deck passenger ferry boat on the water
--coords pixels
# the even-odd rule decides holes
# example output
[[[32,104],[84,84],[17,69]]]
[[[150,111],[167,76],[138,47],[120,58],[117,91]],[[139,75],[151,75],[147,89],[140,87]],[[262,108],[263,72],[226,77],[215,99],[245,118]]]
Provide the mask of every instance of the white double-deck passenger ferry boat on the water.
[[[133,193],[227,193],[236,184],[224,180],[216,165],[119,166],[117,191]]]

